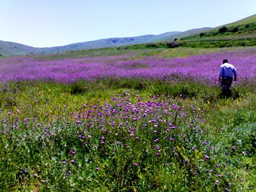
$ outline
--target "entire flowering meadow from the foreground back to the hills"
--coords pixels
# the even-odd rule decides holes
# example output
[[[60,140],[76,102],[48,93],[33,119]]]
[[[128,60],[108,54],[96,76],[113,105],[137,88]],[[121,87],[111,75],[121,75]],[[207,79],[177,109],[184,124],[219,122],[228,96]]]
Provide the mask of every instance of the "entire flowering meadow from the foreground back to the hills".
[[[1,58],[0,189],[253,191],[256,49],[163,52]]]

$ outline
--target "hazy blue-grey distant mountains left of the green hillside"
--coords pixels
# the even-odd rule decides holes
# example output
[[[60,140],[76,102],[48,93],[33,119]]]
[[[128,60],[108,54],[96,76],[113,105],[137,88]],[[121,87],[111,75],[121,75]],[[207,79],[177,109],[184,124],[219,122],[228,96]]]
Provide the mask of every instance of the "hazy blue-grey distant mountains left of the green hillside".
[[[184,37],[186,35],[195,35],[200,33],[200,31],[205,31],[211,28],[200,28],[192,29],[189,31],[172,31],[163,33],[160,35],[142,35],[142,36],[132,36],[123,38],[105,38],[100,40],[93,40],[89,42],[80,42],[76,44],[69,44],[58,47],[31,47],[28,45],[18,44],[14,42],[4,42],[0,40],[0,56],[15,56],[15,55],[32,55],[32,54],[51,54],[63,51],[76,51],[82,49],[99,49],[104,47],[117,47],[124,45],[134,45],[134,44],[145,44],[161,42],[164,40],[173,41],[175,38]],[[191,33],[191,31],[193,31]]]

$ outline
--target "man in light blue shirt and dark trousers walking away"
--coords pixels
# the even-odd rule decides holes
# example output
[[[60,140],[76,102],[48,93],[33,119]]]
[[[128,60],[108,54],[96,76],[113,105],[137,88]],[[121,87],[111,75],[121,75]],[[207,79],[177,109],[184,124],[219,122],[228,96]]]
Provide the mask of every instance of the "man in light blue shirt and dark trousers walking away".
[[[236,81],[236,68],[228,63],[228,60],[223,60],[223,64],[220,66],[219,82],[221,84],[221,95],[231,96],[230,86],[233,81]]]

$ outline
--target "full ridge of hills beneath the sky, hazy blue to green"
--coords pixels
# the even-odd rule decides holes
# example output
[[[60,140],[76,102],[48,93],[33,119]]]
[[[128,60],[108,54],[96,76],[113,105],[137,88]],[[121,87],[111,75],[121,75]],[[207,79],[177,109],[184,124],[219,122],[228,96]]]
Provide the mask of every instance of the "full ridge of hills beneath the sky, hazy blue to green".
[[[224,27],[225,26],[225,27]],[[226,27],[227,26],[227,27]],[[221,31],[225,29],[226,31]],[[123,38],[105,38],[89,42],[58,46],[58,47],[31,47],[28,45],[17,44],[14,42],[4,42],[0,40],[0,56],[14,56],[24,54],[52,54],[63,51],[77,51],[82,49],[99,49],[104,47],[118,47],[135,44],[147,44],[157,42],[172,42],[179,40],[203,40],[216,38],[236,38],[256,36],[256,14],[244,19],[224,24],[216,28],[199,28],[188,31],[172,31],[160,35],[143,35]]]

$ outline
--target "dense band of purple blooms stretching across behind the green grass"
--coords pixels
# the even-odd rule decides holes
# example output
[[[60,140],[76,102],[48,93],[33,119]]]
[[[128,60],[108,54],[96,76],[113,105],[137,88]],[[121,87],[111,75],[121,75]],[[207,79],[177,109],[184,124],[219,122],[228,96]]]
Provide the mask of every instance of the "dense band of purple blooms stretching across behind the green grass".
[[[71,83],[79,79],[92,81],[106,77],[154,80],[193,77],[196,81],[216,84],[221,62],[223,58],[228,58],[239,71],[239,83],[255,83],[255,51],[255,48],[250,48],[182,58],[163,58],[157,55],[136,58],[129,54],[54,61],[36,57],[3,58],[0,60],[0,81]]]

